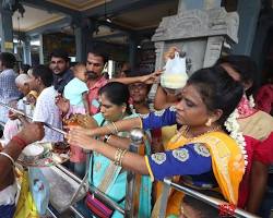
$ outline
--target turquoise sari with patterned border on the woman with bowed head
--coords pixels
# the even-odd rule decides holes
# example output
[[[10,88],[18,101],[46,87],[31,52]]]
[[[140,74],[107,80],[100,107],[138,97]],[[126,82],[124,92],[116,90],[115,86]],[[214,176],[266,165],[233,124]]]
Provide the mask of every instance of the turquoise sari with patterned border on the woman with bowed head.
[[[136,114],[124,117],[130,119]],[[98,125],[107,125],[102,113],[93,116]],[[120,132],[118,134],[122,137],[128,137],[128,132]],[[145,145],[145,154],[150,154],[150,145]],[[88,182],[104,192],[108,197],[115,202],[121,202],[120,206],[124,207],[124,196],[127,186],[127,171],[121,167],[114,165],[114,161],[104,157],[98,153],[93,153],[93,161],[90,164]],[[145,218],[151,216],[151,196],[152,196],[152,182],[150,177],[142,175],[139,195],[139,213],[138,217]],[[114,213],[112,218],[121,218],[122,215],[117,210]]]

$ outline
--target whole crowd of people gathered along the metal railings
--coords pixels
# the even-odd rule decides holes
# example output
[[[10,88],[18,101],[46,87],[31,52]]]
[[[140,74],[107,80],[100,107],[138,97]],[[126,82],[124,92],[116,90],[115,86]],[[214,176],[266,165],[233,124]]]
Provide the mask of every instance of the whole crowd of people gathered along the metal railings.
[[[166,60],[176,52],[177,48],[170,48]],[[87,172],[88,183],[120,206],[124,206],[128,170],[140,174],[138,217],[158,217],[164,178],[270,216],[273,118],[254,106],[258,70],[249,57],[222,57],[176,89],[157,84],[166,72],[141,68],[126,68],[109,80],[103,74],[107,62],[107,55],[94,49],[86,64],[70,68],[68,55],[57,49],[48,66],[37,65],[17,75],[12,70],[14,56],[0,53],[0,101],[33,117],[29,122],[0,107],[0,121],[5,123],[0,147],[0,217],[13,217],[14,161],[36,141],[69,143],[70,170],[81,178]],[[151,100],[149,93],[155,84]],[[86,118],[84,124],[73,123],[78,114]],[[63,137],[44,123],[67,134]],[[142,154],[129,152],[129,132],[134,128],[149,138]],[[85,150],[93,152],[87,169]],[[78,204],[85,217],[105,213],[94,198],[87,194]],[[118,210],[110,216],[122,217]],[[168,216],[218,217],[218,210],[171,190]]]

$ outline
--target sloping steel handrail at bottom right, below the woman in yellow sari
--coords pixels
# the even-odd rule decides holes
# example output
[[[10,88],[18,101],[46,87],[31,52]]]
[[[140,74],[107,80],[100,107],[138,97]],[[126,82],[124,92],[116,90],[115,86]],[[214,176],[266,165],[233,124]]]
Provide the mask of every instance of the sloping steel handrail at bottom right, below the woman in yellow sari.
[[[170,179],[164,179],[164,183],[167,184],[167,185],[170,185],[171,187],[174,187],[175,190],[178,190],[180,192],[183,192],[201,202],[204,202],[215,208],[219,208],[221,205],[229,205],[227,202],[224,202],[224,201],[221,201],[221,199],[217,199],[215,197],[211,197],[211,196],[207,196],[207,195],[204,195],[202,193],[199,193],[194,190],[191,190],[187,186],[183,186],[183,185],[179,185],[179,184],[176,184],[174,182],[171,182]],[[247,217],[247,218],[257,218],[258,216],[253,215],[253,214],[250,214],[248,211],[245,211],[242,209],[239,209],[239,208],[235,208],[235,210],[233,211],[235,217]]]

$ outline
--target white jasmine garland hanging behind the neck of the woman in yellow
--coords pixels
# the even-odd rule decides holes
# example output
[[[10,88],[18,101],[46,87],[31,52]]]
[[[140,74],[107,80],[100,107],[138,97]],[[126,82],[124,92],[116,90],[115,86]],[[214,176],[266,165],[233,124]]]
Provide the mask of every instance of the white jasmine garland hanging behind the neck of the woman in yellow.
[[[239,118],[238,110],[235,109],[234,112],[232,112],[230,116],[227,118],[224,125],[226,130],[229,132],[230,137],[233,137],[236,141],[236,143],[239,145],[241,154],[244,155],[245,167],[247,167],[248,155],[246,150],[246,141],[242,135],[242,132],[240,132],[240,125],[237,121],[238,118]]]

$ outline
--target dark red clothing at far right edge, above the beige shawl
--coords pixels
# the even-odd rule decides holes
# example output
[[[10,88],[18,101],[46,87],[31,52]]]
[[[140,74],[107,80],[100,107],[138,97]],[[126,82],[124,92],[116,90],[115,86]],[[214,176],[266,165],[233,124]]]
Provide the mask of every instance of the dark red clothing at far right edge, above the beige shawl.
[[[257,108],[270,113],[273,109],[273,85],[262,86],[256,96]]]

